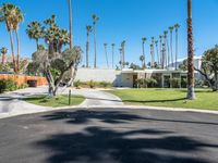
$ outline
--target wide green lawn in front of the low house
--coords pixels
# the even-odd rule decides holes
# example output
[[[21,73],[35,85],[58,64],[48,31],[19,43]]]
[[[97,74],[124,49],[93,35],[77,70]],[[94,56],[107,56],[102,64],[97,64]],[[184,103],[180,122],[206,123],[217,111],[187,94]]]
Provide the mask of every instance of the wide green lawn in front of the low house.
[[[187,101],[186,89],[123,89],[109,92],[120,97],[125,104],[203,109],[218,111],[218,92],[196,89],[197,100]]]

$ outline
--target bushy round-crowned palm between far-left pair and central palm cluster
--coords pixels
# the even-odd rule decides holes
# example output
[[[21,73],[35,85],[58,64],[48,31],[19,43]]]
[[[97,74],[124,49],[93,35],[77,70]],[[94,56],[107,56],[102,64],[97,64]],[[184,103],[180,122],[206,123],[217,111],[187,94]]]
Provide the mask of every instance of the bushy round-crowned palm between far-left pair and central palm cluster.
[[[39,48],[39,39],[44,37],[44,29],[39,22],[32,22],[27,25],[26,34],[29,39],[34,39],[36,41],[37,50]]]

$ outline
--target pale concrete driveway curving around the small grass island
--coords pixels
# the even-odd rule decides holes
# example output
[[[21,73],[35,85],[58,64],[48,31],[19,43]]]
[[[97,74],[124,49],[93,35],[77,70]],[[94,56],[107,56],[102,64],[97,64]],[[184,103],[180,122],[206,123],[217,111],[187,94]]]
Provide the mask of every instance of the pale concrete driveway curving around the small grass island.
[[[14,115],[39,113],[45,111],[51,111],[52,108],[39,106],[22,101],[23,98],[46,95],[48,92],[48,87],[37,87],[37,88],[26,88],[22,90],[16,90],[9,93],[0,95],[0,118],[9,117]],[[69,89],[64,91],[60,88],[60,93],[68,93]],[[122,105],[122,100],[118,97],[97,90],[97,89],[73,89],[73,95],[81,95],[86,98],[86,100],[81,104],[81,106],[106,106],[106,105]]]

